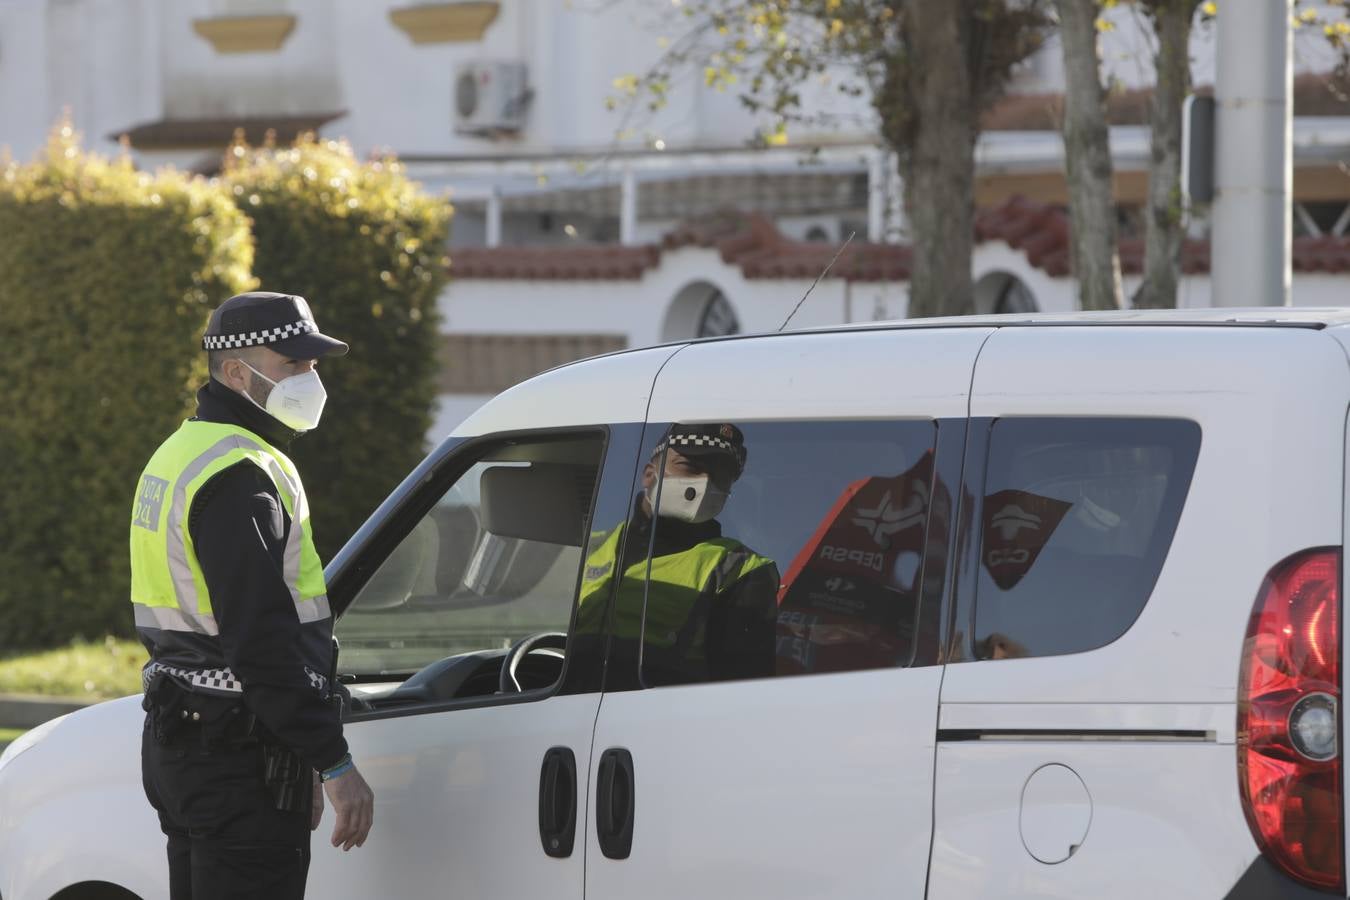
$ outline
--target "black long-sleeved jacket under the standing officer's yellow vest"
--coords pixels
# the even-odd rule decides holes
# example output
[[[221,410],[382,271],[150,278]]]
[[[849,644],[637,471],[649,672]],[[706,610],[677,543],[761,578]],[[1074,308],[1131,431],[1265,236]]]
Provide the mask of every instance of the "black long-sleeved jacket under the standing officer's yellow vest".
[[[215,379],[197,391],[196,418],[239,425],[284,452],[297,436]],[[306,764],[335,765],[347,753],[340,714],[310,677],[327,677],[332,619],[302,626],[296,614],[282,569],[293,524],[275,484],[252,463],[231,466],[198,490],[188,517],[223,661],[244,704]]]

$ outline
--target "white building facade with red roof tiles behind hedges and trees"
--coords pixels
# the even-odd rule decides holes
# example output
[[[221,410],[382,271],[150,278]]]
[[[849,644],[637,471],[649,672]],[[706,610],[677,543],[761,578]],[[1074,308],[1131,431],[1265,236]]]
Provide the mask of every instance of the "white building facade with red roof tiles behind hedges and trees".
[[[1107,18],[1129,294],[1153,42],[1134,4]],[[688,27],[671,0],[0,0],[0,146],[30,158],[68,112],[86,146],[117,152],[126,136],[144,167],[213,171],[236,128],[255,143],[316,131],[359,155],[396,152],[456,208],[437,434],[494,390],[578,354],[778,328],[850,236],[792,325],[905,316],[900,184],[867,99],[840,92],[846,72],[802,86],[817,124],[790,127],[786,146],[756,143],[775,123],[748,113],[734,88],[706,88],[701,69],[675,80],[659,112],[606,108]],[[1212,23],[1197,24],[1196,84],[1214,81],[1214,47]],[[1316,76],[1334,62],[1315,28],[1296,34],[1299,305],[1338,304],[1350,283],[1350,104]],[[981,310],[1075,305],[1053,121],[1062,84],[1052,39],[987,119]],[[690,237],[688,223],[714,213],[757,235],[753,252],[734,251],[730,225]],[[1192,235],[1204,233],[1196,219]],[[1207,305],[1207,254],[1191,256],[1180,302]]]

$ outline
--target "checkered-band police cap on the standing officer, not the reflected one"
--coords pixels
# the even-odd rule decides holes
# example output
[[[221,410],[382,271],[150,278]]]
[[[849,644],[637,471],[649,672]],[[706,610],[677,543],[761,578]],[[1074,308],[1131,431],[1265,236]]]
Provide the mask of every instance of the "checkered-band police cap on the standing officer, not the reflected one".
[[[235,294],[211,313],[202,349],[267,347],[294,359],[347,352],[347,344],[319,332],[309,304],[297,294],[254,290]]]

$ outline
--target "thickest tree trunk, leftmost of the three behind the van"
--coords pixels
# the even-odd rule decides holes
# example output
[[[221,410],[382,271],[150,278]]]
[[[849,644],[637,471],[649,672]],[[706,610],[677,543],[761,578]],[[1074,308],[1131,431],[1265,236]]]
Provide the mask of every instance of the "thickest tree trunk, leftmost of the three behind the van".
[[[975,136],[979,128],[968,58],[969,0],[913,0],[909,54],[898,61],[905,85],[888,92],[906,104],[907,142],[899,151],[914,256],[911,317],[975,312]],[[884,117],[884,116],[883,116]],[[907,144],[907,146],[906,146]]]

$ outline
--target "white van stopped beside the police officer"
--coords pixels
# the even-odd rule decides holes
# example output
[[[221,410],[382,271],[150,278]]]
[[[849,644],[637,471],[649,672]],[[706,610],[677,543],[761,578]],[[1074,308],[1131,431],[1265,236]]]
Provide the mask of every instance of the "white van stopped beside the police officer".
[[[504,393],[328,567],[377,810],[310,896],[1346,896],[1347,347],[1350,310],[907,321]],[[693,424],[744,434],[753,615],[647,600]],[[140,721],[0,758],[4,900],[167,896]]]

